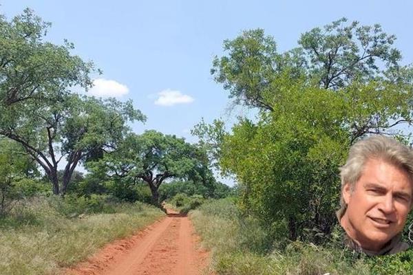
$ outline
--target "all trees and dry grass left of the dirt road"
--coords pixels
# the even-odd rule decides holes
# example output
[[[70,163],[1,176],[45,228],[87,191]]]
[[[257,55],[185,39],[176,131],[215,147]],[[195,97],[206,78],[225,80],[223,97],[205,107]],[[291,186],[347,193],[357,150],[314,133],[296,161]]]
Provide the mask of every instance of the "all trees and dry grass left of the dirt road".
[[[45,41],[48,28],[30,9],[0,15],[0,274],[59,274],[132,234],[164,215],[160,195],[178,193],[169,181],[202,199],[229,190],[201,146],[133,133],[146,117],[130,100],[74,93],[100,71],[72,43]]]

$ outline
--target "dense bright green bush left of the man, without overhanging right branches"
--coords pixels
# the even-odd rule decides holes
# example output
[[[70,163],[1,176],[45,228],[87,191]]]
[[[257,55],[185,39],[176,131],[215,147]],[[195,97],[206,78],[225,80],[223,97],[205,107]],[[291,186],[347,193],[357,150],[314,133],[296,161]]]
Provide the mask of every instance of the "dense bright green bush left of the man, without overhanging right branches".
[[[291,88],[286,98],[281,110],[262,115],[257,124],[235,124],[222,143],[220,164],[243,186],[244,210],[268,224],[284,219],[291,239],[304,228],[328,233],[335,223],[337,168],[348,146],[337,123],[337,94]]]

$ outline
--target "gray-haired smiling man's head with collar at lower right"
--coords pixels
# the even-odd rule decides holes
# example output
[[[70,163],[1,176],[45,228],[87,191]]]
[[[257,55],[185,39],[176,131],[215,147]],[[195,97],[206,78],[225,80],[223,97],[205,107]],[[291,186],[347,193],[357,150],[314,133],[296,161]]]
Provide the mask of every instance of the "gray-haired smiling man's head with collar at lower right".
[[[370,256],[407,250],[401,232],[413,200],[413,153],[381,135],[350,148],[341,167],[341,209],[337,217],[352,250]]]

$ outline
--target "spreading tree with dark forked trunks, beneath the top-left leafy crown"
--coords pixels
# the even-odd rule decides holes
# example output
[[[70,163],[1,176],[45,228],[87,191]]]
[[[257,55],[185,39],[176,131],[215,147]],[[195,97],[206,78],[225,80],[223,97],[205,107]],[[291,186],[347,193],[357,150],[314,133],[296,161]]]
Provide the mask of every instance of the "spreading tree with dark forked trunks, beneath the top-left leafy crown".
[[[129,131],[127,121],[144,120],[130,101],[98,100],[68,94],[34,104],[15,104],[19,115],[0,133],[19,142],[45,171],[54,194],[65,194],[74,169],[116,149]],[[59,179],[59,163],[65,168]]]

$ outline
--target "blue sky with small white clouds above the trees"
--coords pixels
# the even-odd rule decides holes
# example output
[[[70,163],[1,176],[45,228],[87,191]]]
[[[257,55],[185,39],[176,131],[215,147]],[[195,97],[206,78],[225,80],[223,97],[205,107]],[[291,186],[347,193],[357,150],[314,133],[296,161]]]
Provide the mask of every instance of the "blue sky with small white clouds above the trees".
[[[413,63],[413,1],[52,1],[0,0],[9,19],[32,8],[52,22],[47,40],[76,46],[74,54],[103,70],[96,93],[131,98],[148,120],[134,131],[156,129],[195,141],[201,118],[223,117],[228,94],[209,74],[222,41],[264,28],[279,52],[297,46],[302,32],[341,17],[380,23],[397,37],[403,63]],[[122,96],[121,96],[122,95]],[[246,110],[243,110],[246,111]]]

